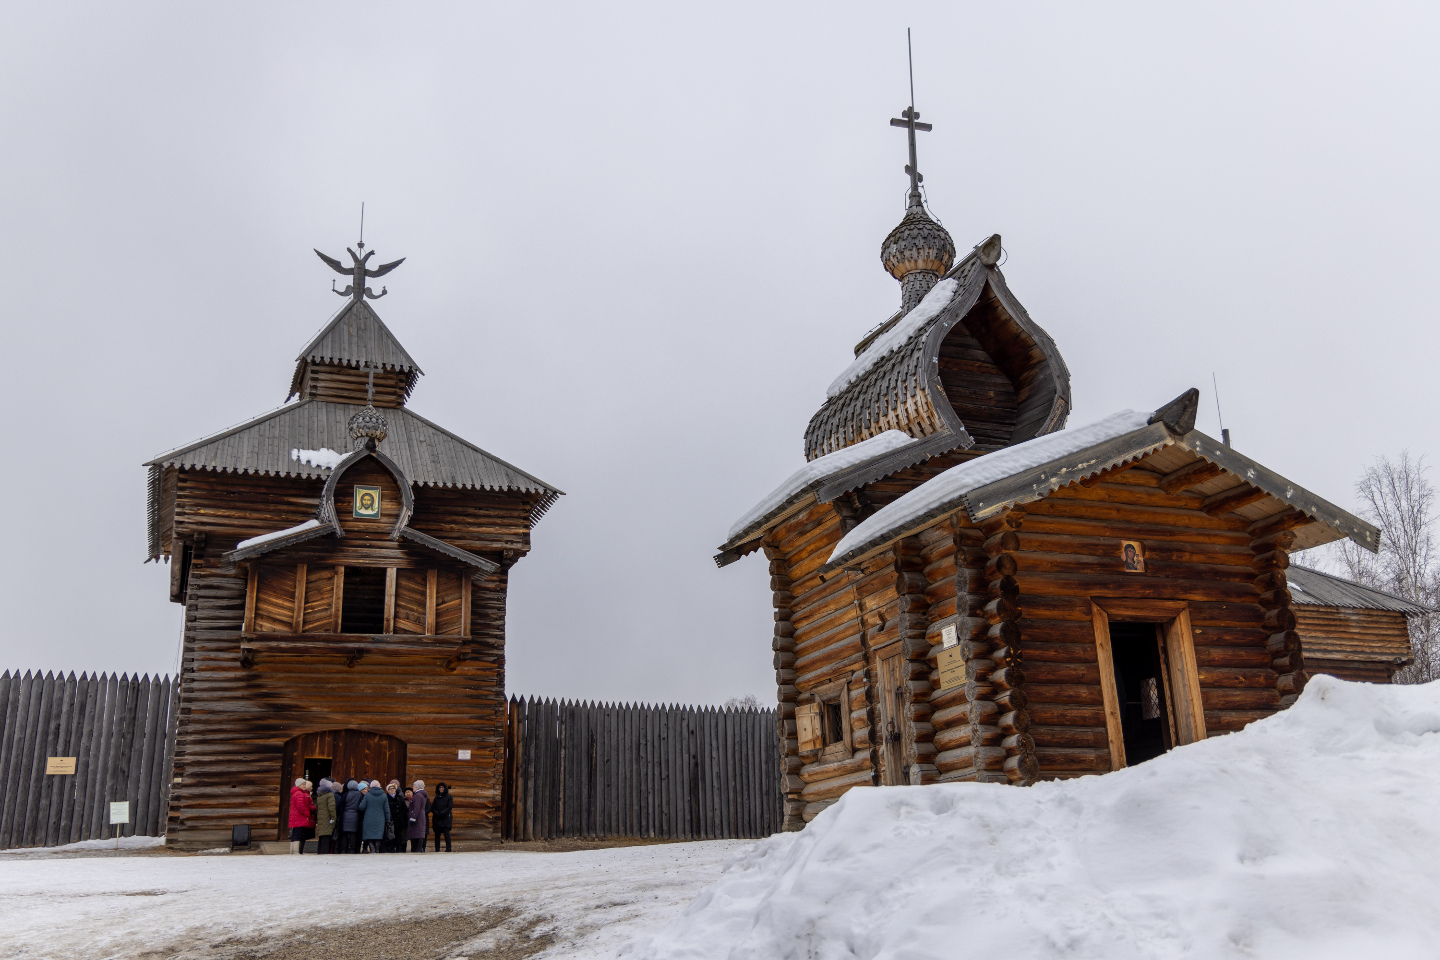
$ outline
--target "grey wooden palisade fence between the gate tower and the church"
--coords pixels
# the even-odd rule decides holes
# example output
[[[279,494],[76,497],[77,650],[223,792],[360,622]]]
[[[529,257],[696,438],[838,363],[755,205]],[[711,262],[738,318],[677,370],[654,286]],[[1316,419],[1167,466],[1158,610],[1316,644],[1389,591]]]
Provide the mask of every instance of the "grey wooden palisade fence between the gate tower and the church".
[[[513,698],[505,838],[769,836],[779,750],[773,710]]]

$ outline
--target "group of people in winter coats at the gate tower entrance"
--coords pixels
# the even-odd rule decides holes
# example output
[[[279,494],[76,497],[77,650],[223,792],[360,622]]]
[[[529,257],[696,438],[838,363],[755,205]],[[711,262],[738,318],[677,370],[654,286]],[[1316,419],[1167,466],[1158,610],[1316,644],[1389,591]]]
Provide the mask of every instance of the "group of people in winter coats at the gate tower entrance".
[[[311,793],[314,790],[314,793]],[[435,849],[451,852],[454,800],[449,786],[435,784],[435,799],[425,780],[402,790],[399,780],[383,789],[379,780],[321,780],[315,789],[300,777],[289,789],[289,851],[304,853],[314,838],[317,853],[412,853],[425,852],[425,839],[435,833]]]

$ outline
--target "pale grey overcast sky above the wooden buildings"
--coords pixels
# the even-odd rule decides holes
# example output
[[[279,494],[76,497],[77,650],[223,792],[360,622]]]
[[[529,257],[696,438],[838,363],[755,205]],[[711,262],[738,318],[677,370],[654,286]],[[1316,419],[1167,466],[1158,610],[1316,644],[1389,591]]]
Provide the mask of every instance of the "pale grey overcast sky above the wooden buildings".
[[[711,554],[899,304],[906,26],[930,209],[1071,423],[1198,386],[1218,435],[1214,373],[1344,507],[1434,459],[1437,7],[901,10],[0,6],[0,668],[174,669],[141,463],[284,400],[363,200],[413,409],[567,494],[510,689],[770,701],[765,560]]]

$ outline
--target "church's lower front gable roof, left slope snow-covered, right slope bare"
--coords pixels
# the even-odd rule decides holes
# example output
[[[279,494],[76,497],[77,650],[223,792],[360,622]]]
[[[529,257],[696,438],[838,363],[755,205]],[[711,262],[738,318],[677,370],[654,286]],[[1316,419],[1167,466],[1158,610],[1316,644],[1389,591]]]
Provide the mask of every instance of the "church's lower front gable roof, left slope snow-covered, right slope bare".
[[[1200,391],[1188,390],[1155,413],[1122,410],[952,466],[845,534],[825,569],[861,560],[958,510],[979,521],[1169,446],[1184,448],[1181,453],[1187,459],[1207,459],[1269,494],[1264,502],[1273,504],[1276,511],[1293,508],[1318,521],[1318,528],[1326,533],[1312,534],[1306,547],[1349,537],[1367,550],[1378,548],[1380,530],[1372,524],[1195,430],[1198,402]]]

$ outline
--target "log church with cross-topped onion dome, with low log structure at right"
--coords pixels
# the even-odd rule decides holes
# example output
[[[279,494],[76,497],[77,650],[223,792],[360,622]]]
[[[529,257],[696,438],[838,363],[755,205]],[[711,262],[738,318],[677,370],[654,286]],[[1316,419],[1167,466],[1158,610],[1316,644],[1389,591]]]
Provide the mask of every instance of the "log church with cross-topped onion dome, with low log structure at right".
[[[786,829],[855,786],[1117,770],[1286,707],[1308,664],[1388,679],[1418,609],[1305,571],[1325,597],[1302,612],[1289,576],[1292,550],[1380,531],[1197,430],[1195,390],[1067,427],[999,237],[956,262],[926,210],[917,117],[891,121],[900,309],[716,557],[770,564]]]

